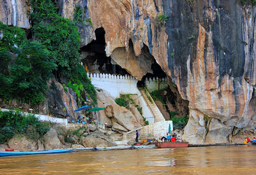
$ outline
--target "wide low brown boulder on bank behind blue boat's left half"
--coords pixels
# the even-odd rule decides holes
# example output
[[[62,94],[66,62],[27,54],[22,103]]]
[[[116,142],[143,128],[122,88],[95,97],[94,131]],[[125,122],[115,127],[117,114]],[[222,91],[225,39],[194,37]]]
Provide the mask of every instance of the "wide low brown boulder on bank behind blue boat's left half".
[[[37,142],[27,138],[25,135],[13,136],[13,138],[9,140],[8,145],[10,148],[20,151],[37,150]]]

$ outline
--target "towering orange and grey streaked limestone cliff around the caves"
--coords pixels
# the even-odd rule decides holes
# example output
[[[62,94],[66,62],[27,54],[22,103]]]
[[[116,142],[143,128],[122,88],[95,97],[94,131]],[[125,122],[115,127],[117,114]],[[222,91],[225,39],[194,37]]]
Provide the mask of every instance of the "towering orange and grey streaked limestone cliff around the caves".
[[[70,19],[75,5],[82,5],[92,26],[79,26],[81,45],[90,43],[96,28],[103,27],[106,55],[137,79],[151,71],[152,59],[147,61],[149,56],[143,53],[148,48],[181,97],[189,101],[183,136],[187,141],[231,142],[241,131],[255,132],[254,6],[237,0],[57,2],[60,14]],[[8,13],[10,3],[0,3],[5,5],[0,16],[13,17]],[[163,14],[168,19],[158,22]],[[0,20],[10,25],[8,21],[14,19]]]

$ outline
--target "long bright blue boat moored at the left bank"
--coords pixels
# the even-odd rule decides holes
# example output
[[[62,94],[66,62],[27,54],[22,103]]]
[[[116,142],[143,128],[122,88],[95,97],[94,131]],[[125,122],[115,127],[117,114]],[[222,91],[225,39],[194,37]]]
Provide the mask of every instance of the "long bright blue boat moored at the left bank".
[[[42,151],[0,151],[0,156],[11,155],[29,155],[29,154],[56,154],[56,153],[68,153],[74,149],[54,149],[54,150],[42,150]]]

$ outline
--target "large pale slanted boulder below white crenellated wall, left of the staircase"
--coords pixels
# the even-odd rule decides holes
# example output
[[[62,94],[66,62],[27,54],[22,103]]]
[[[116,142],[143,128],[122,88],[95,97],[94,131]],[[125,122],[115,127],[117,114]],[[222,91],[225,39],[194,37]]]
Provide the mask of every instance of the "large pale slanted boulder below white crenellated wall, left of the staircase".
[[[138,127],[142,127],[141,124],[138,123],[135,116],[132,115],[130,110],[126,109],[125,107],[121,107],[118,104],[111,104],[106,107],[108,111],[109,118],[112,118],[112,114],[114,115],[112,122],[117,121],[118,124],[125,127],[125,129],[132,131],[137,129]]]

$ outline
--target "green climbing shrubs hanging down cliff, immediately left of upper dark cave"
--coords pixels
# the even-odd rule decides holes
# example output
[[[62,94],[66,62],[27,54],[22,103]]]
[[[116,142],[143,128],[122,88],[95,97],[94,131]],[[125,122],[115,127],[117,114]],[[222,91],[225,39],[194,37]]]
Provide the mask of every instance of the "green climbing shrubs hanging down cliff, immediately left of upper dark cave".
[[[57,13],[55,1],[31,0],[32,32],[34,39],[39,40],[48,50],[51,60],[57,64],[56,77],[64,75],[69,88],[77,96],[78,103],[86,101],[83,91],[92,99],[92,105],[97,104],[96,91],[87,77],[85,69],[79,64],[78,23],[81,19],[81,9],[76,7],[74,22],[61,17]]]

